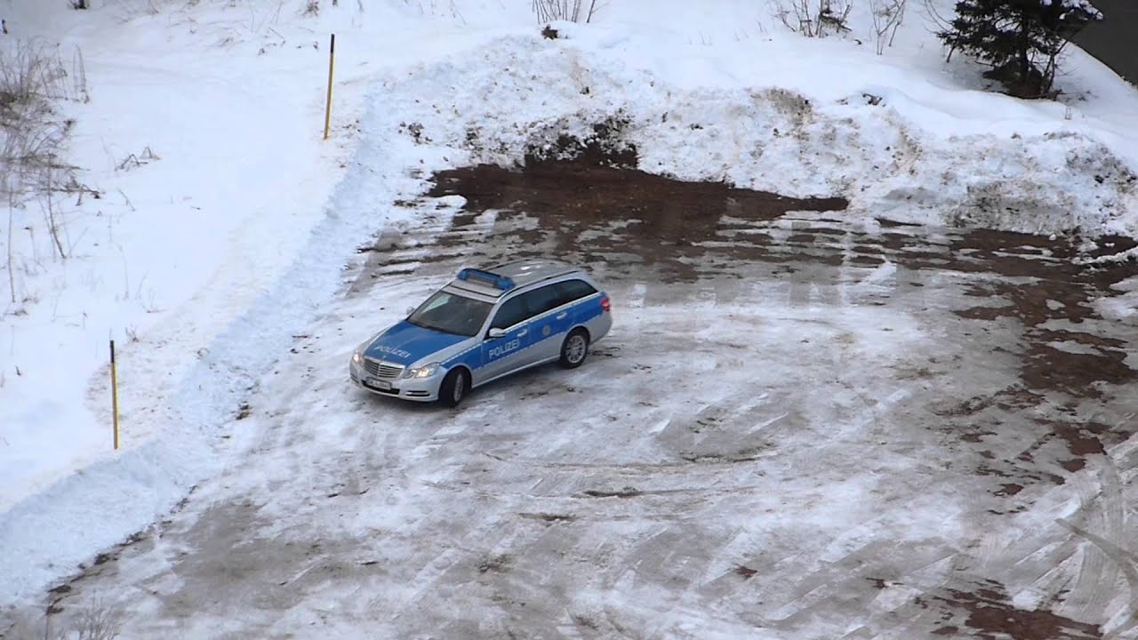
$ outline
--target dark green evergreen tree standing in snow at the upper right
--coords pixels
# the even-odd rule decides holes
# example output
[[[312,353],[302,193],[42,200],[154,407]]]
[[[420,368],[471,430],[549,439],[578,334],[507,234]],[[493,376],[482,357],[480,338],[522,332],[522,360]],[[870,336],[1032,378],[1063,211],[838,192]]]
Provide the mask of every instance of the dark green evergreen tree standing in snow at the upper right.
[[[1103,14],[1089,0],[959,0],[956,18],[937,36],[992,66],[999,80],[1023,98],[1048,96],[1059,54],[1074,34]]]

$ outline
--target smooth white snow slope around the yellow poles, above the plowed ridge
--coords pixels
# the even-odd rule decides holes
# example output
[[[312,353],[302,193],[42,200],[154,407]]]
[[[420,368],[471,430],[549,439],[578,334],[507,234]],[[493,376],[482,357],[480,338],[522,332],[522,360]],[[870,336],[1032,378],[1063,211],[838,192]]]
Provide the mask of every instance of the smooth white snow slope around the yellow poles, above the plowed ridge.
[[[155,422],[134,419],[139,407],[167,404],[193,362],[188,354],[279,279],[323,218],[348,154],[371,69],[358,56],[341,66],[339,131],[322,142],[327,42],[315,24],[292,16],[290,31],[280,24],[290,16],[262,22],[222,2],[157,15],[145,7],[81,14],[40,5],[26,20],[8,18],[13,35],[38,26],[82,52],[91,101],[61,107],[77,123],[79,179],[102,197],[66,212],[67,262],[40,259],[51,255],[42,231],[16,238],[17,265],[33,264],[17,266],[18,300],[6,313],[3,393],[15,424],[0,453],[0,508],[107,453],[108,383],[91,375],[106,363],[109,338],[122,351],[126,445],[150,435]],[[347,27],[335,17],[322,31]],[[341,38],[340,49],[351,60],[366,42]],[[393,52],[403,44],[391,40]],[[234,65],[240,58],[249,61]],[[41,223],[30,206],[14,228]],[[148,330],[156,344],[132,348]]]

